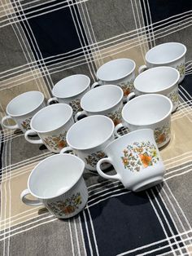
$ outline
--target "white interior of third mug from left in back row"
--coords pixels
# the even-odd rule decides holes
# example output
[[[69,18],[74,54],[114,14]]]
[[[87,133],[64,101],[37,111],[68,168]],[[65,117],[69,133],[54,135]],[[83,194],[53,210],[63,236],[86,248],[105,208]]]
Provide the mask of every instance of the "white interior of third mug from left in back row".
[[[98,68],[97,77],[102,81],[115,81],[128,76],[133,72],[134,68],[135,63],[133,60],[111,60]]]

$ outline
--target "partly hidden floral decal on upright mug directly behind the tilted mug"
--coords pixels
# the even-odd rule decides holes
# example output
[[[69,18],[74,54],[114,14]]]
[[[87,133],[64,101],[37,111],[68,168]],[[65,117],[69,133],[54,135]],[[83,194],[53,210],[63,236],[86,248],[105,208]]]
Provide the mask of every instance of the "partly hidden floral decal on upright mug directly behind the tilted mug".
[[[154,135],[155,141],[159,145],[168,140],[171,133],[170,121],[162,127],[155,128]]]

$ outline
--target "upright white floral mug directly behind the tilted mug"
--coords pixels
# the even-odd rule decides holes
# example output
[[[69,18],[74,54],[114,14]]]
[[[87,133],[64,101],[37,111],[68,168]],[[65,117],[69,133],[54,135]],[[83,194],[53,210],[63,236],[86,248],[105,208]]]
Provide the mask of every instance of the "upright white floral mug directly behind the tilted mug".
[[[171,139],[172,101],[164,95],[146,94],[130,100],[122,109],[123,123],[115,128],[125,126],[129,131],[150,128],[154,130],[155,141],[159,148]]]

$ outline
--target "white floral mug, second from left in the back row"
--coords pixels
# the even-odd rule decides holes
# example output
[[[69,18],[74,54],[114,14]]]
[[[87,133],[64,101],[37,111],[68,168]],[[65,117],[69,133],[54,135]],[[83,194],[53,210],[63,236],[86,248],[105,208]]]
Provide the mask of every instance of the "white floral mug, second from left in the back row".
[[[90,78],[76,74],[65,77],[55,84],[52,89],[53,98],[48,99],[47,104],[53,101],[69,104],[72,107],[73,115],[82,110],[80,101],[83,95],[90,90]]]

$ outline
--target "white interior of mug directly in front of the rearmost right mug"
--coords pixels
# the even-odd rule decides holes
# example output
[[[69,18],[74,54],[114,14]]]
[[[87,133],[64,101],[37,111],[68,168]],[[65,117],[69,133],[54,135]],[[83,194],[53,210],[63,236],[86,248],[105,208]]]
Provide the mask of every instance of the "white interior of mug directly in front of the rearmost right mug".
[[[150,68],[135,78],[134,86],[136,90],[141,92],[155,93],[176,85],[179,77],[180,75],[175,68]]]

